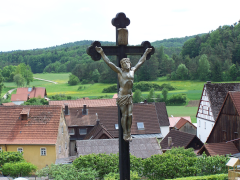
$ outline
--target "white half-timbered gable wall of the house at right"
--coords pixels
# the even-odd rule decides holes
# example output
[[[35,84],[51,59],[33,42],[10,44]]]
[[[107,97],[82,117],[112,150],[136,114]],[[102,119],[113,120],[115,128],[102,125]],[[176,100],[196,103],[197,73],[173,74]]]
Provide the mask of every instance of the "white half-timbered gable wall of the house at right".
[[[211,104],[204,86],[197,112],[197,136],[203,143],[206,142],[214,123]]]

